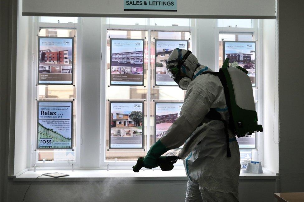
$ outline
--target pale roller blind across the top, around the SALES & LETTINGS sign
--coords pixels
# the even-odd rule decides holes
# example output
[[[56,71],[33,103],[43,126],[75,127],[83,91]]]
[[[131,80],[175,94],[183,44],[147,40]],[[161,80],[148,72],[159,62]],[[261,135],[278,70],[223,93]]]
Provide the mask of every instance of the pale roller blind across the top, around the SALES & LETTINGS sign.
[[[161,18],[275,18],[275,0],[177,0],[176,12],[124,11],[124,3],[124,0],[23,0],[22,15]]]

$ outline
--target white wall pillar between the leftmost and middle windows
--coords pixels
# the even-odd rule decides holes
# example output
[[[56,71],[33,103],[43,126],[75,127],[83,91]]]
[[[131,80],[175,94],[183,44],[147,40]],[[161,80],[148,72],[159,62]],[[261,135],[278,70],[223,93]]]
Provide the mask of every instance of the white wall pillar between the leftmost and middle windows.
[[[99,162],[91,157],[99,155],[100,44],[101,18],[83,18],[82,89],[78,96],[81,96],[81,149],[86,156],[81,154],[81,167],[99,167]]]

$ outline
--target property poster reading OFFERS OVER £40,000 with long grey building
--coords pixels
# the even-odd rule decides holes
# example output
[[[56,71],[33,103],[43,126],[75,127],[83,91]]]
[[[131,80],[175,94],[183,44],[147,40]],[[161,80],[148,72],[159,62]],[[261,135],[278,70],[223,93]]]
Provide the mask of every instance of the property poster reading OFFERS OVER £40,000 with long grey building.
[[[144,39],[111,39],[111,85],[144,85]]]

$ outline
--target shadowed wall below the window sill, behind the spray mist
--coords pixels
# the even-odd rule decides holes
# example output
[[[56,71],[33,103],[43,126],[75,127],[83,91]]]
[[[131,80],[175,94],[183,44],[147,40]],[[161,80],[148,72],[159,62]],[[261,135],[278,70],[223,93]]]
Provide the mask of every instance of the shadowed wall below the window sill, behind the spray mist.
[[[7,202],[21,202],[29,182],[11,182]],[[240,202],[275,202],[274,180],[242,180]],[[183,202],[187,181],[35,181],[24,202]]]

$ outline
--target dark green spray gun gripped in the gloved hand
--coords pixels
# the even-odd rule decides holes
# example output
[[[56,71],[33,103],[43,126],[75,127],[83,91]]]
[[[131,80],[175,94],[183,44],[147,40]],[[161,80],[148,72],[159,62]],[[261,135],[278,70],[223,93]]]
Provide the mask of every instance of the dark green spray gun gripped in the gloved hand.
[[[180,159],[178,156],[161,156],[157,159],[157,165],[162,171],[171,171],[173,169],[173,164]],[[139,157],[135,166],[133,166],[134,172],[139,172],[139,170],[144,167],[144,157]]]

